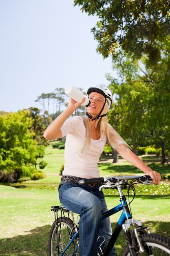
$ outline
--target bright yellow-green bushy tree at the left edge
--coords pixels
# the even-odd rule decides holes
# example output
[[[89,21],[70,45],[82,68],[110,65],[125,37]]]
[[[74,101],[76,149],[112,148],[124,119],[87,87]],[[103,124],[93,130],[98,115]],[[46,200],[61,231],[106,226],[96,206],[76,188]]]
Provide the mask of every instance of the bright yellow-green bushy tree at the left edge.
[[[30,176],[39,153],[29,110],[0,115],[0,170],[13,171],[20,176]]]

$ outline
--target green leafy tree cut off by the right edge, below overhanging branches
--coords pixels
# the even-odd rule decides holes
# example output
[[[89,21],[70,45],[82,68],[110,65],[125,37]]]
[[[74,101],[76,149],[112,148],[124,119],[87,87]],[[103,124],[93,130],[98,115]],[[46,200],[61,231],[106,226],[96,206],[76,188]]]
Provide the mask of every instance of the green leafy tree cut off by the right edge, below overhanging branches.
[[[152,97],[148,108],[149,127],[154,141],[162,149],[162,163],[166,161],[165,150],[170,153],[170,36],[160,44],[161,59],[154,68],[146,69],[145,79],[152,81]],[[146,59],[143,60],[147,62]]]

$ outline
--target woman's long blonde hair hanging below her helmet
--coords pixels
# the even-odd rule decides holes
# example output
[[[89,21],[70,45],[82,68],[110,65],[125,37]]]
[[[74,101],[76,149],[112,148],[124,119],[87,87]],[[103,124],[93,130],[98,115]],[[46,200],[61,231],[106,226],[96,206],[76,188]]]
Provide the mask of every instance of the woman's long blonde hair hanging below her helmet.
[[[104,109],[102,110],[102,113],[100,115],[104,115],[108,111],[108,103],[106,101],[106,104],[104,106]],[[84,116],[84,126],[86,128],[86,145],[84,148],[84,151],[88,150],[91,144],[91,132],[90,132],[90,122],[91,120],[87,115]],[[116,132],[113,127],[108,124],[108,118],[105,117],[99,117],[99,119],[96,120],[95,129],[100,129],[100,137],[104,137],[106,135],[106,142],[108,142],[113,149],[125,149],[122,144],[128,146],[128,144],[124,141],[124,139]]]

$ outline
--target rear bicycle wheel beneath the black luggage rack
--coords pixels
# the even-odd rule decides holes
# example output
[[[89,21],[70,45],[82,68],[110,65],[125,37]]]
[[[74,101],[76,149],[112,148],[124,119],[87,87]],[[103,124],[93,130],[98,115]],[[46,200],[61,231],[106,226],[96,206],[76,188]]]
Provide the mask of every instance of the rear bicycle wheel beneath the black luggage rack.
[[[61,226],[61,229],[60,229]],[[55,221],[51,227],[49,234],[49,256],[60,256],[63,250],[66,248],[66,245],[70,242],[70,239],[75,234],[75,228],[73,225],[73,221],[67,217],[58,218],[58,234],[60,236],[59,247],[57,248],[57,240],[56,240],[56,231],[55,231]],[[77,256],[79,255],[79,238],[76,237],[73,240],[73,243],[68,247],[66,252],[64,252],[64,256]],[[76,250],[76,253],[75,253]]]

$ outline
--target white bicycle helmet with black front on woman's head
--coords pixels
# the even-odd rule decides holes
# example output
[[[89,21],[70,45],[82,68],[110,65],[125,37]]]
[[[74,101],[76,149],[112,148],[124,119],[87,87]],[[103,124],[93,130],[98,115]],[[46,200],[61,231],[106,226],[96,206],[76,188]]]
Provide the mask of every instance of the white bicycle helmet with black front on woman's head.
[[[98,92],[102,94],[108,102],[108,110],[110,109],[113,102],[113,95],[107,87],[103,85],[94,85],[88,88],[87,94],[89,95],[91,92]]]

